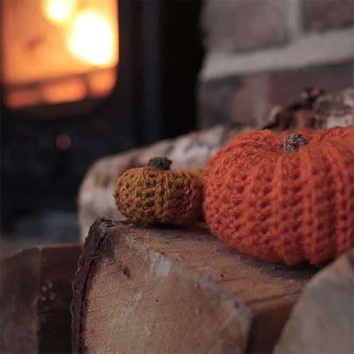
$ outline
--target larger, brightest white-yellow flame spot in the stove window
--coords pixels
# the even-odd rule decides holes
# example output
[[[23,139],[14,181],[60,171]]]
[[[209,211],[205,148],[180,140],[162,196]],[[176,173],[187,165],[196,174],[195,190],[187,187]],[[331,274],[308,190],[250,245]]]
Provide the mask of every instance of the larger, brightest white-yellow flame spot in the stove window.
[[[113,43],[110,21],[92,11],[84,11],[74,19],[67,47],[75,57],[107,67],[115,59]]]

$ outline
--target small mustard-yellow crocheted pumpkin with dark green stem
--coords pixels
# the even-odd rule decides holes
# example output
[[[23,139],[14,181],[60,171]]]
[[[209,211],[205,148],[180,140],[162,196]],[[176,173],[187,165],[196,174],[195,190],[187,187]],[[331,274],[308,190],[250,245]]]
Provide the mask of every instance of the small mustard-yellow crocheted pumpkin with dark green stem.
[[[202,213],[202,173],[169,170],[172,161],[155,157],[117,180],[118,210],[135,222],[188,224]]]

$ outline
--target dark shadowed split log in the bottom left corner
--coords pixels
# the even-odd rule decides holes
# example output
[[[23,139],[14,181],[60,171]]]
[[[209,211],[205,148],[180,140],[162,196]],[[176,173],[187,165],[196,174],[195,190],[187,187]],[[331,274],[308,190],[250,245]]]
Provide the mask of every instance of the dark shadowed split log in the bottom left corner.
[[[72,280],[80,244],[1,258],[1,353],[72,353]]]

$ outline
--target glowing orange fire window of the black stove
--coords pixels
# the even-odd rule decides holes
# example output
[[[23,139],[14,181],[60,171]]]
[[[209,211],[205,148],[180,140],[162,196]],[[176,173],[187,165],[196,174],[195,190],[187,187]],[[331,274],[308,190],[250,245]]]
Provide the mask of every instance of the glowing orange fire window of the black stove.
[[[107,96],[119,59],[117,2],[4,1],[1,70],[6,105]],[[23,13],[28,15],[23,18]]]

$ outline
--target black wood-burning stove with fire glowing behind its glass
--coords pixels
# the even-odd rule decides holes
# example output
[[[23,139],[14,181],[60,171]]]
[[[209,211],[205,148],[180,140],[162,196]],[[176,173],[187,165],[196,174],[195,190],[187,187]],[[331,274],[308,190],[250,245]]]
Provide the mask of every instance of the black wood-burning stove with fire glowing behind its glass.
[[[77,239],[76,193],[93,161],[195,129],[200,5],[1,1],[4,234]],[[23,218],[36,226],[18,229]]]

